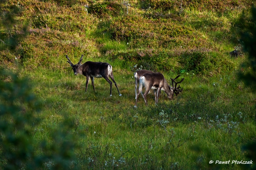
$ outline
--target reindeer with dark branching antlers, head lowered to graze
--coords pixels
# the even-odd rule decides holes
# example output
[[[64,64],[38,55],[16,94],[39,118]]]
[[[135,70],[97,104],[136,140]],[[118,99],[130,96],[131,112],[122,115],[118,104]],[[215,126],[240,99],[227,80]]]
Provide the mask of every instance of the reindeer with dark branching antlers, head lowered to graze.
[[[163,74],[161,74],[159,72],[143,74],[140,77],[139,92],[137,93],[136,103],[135,103],[134,107],[137,107],[137,102],[138,102],[138,97],[139,97],[138,95],[142,91],[143,87],[145,87],[145,92],[143,94],[143,98],[145,100],[146,105],[148,105],[148,101],[147,101],[146,97],[147,97],[147,94],[150,89],[155,90],[155,103],[156,104],[158,102],[161,90],[163,90],[167,94],[167,96],[170,100],[173,100],[173,93],[178,95],[180,92],[182,92],[182,88],[180,89],[180,85],[179,85],[179,87],[177,87],[177,84],[181,83],[184,80],[184,78],[182,78],[181,81],[179,81],[179,82],[175,82],[175,79],[177,79],[179,77],[180,77],[180,75],[174,79],[171,78],[172,87],[170,87],[170,85],[168,85],[168,83],[166,82]],[[173,83],[175,83],[175,86],[173,86]]]

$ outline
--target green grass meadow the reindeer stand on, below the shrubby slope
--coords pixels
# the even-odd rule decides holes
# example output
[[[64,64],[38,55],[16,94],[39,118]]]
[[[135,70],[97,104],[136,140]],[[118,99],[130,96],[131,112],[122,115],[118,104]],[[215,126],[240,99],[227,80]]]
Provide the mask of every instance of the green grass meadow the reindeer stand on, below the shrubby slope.
[[[68,116],[74,123],[70,133],[80,144],[80,149],[75,150],[79,166],[190,169],[196,164],[209,168],[210,160],[246,160],[241,146],[255,136],[255,95],[249,89],[241,93],[232,76],[221,76],[221,82],[219,76],[208,78],[206,83],[199,76],[190,82],[189,75],[183,75],[184,91],[174,101],[162,92],[155,106],[150,93],[149,106],[140,96],[135,109],[132,72],[114,71],[123,96],[119,97],[113,87],[113,96],[109,97],[109,85],[104,79],[95,79],[96,92],[90,84],[85,93],[85,77],[69,70],[63,73],[39,69],[26,75],[35,77],[34,91],[45,103],[37,127],[43,130],[36,131],[35,139],[50,135],[51,129]],[[159,115],[162,110],[168,117]],[[161,120],[168,120],[165,128]],[[192,146],[200,146],[199,153]],[[239,169],[237,165],[220,167]]]

